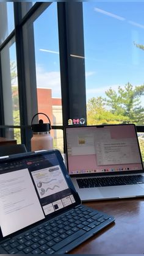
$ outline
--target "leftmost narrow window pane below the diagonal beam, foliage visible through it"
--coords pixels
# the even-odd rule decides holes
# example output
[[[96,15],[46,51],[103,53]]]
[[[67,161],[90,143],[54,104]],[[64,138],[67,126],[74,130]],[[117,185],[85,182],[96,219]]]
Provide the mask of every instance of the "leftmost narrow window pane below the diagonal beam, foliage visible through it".
[[[2,91],[4,97],[5,125],[20,125],[18,80],[15,39],[13,38],[1,51]],[[9,130],[8,137],[20,142],[20,130]]]

